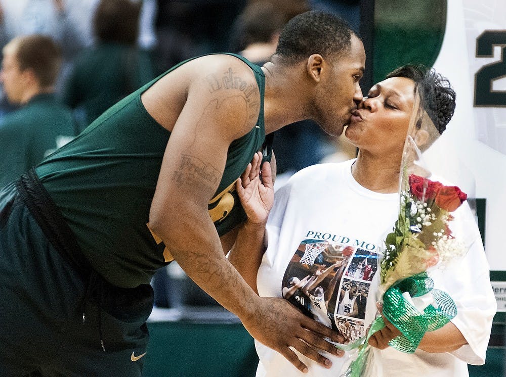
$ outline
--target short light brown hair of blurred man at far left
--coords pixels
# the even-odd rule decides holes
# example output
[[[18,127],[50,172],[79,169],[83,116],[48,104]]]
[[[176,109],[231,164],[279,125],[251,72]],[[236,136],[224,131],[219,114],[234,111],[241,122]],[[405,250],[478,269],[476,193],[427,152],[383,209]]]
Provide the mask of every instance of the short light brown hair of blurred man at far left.
[[[60,72],[60,46],[47,35],[30,34],[15,37],[4,46],[4,52],[16,56],[19,69],[31,69],[40,86],[53,86]]]

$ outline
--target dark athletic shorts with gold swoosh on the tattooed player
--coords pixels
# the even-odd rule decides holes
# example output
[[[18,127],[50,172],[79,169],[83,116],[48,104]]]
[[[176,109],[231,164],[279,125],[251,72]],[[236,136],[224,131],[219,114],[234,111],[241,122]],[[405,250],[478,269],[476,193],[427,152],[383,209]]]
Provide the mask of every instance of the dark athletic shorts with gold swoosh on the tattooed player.
[[[94,272],[30,174],[0,191],[0,376],[141,375],[151,287]]]

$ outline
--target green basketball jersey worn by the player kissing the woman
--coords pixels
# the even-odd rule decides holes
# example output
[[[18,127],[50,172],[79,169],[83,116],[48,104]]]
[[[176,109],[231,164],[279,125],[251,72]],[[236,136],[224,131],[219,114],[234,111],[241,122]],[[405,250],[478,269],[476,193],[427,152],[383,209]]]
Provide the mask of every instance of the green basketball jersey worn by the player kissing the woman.
[[[245,218],[234,182],[265,141],[265,77],[260,67],[237,57],[255,73],[260,114],[257,126],[230,145],[225,171],[209,203],[209,215],[220,235]],[[149,115],[141,95],[184,63],[109,108],[36,167],[83,254],[93,268],[120,287],[149,283],[154,272],[172,259],[170,245],[166,249],[147,226],[170,132]]]

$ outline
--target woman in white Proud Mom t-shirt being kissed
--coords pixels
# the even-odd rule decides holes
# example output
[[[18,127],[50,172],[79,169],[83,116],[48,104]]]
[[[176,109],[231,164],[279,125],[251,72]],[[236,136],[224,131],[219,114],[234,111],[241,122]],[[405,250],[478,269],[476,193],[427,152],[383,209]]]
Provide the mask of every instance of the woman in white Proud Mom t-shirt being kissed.
[[[436,109],[426,105],[425,110],[441,133],[453,114],[455,93],[449,82],[434,71],[408,65],[374,85],[352,113],[345,134],[359,149],[356,159],[314,165],[294,174],[276,192],[268,219],[259,213],[270,208],[274,195],[270,165],[262,165],[261,182],[259,159],[255,160],[237,184],[247,221],[255,222],[257,229],[266,223],[267,248],[263,256],[251,255],[264,249],[248,244],[248,233],[242,232],[230,252],[231,262],[249,276],[248,284],[259,295],[282,297],[289,279],[302,280],[340,261],[344,269],[332,268],[318,287],[301,290],[287,299],[313,318],[321,318],[326,311],[328,318],[323,318],[324,323],[341,334],[342,344],[363,337],[378,315],[377,273],[371,281],[370,276],[364,279],[355,270],[364,260],[372,270],[379,269],[379,248],[397,219],[400,164],[417,89],[436,94]],[[416,131],[414,140],[422,149],[432,143],[423,126]],[[257,211],[258,206],[263,212]],[[441,270],[429,271],[435,288],[447,292],[455,301],[457,315],[440,329],[426,333],[413,354],[388,346],[400,334],[388,322],[369,339],[376,356],[377,376],[460,377],[468,374],[468,363],[485,362],[496,303],[480,234],[467,202],[455,212],[455,225],[460,222],[466,223],[466,238],[472,239],[469,251],[444,274]],[[459,237],[458,230],[454,235]],[[241,263],[235,263],[238,260]],[[247,261],[254,260],[261,260],[260,265],[248,265]],[[250,273],[257,269],[257,275]],[[365,318],[356,312],[357,291],[367,300]],[[324,300],[315,299],[322,292],[332,293],[325,295]],[[303,374],[277,352],[259,342],[256,347],[260,358],[257,376],[335,377],[346,360],[324,353],[332,360],[332,366],[324,368],[295,351],[309,367],[309,374]]]

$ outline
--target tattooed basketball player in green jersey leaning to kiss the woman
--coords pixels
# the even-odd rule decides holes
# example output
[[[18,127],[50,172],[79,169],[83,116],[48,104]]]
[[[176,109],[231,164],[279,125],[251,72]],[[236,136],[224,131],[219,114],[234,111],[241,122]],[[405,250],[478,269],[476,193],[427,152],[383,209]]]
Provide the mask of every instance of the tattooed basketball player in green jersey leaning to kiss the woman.
[[[346,22],[303,13],[263,67],[231,54],[183,62],[5,186],[0,374],[140,374],[149,281],[174,259],[297,368],[289,347],[329,366],[315,349],[341,354],[325,340],[338,335],[286,300],[260,298],[225,252],[248,225],[235,182],[265,135],[306,118],[341,134],[364,65]]]

